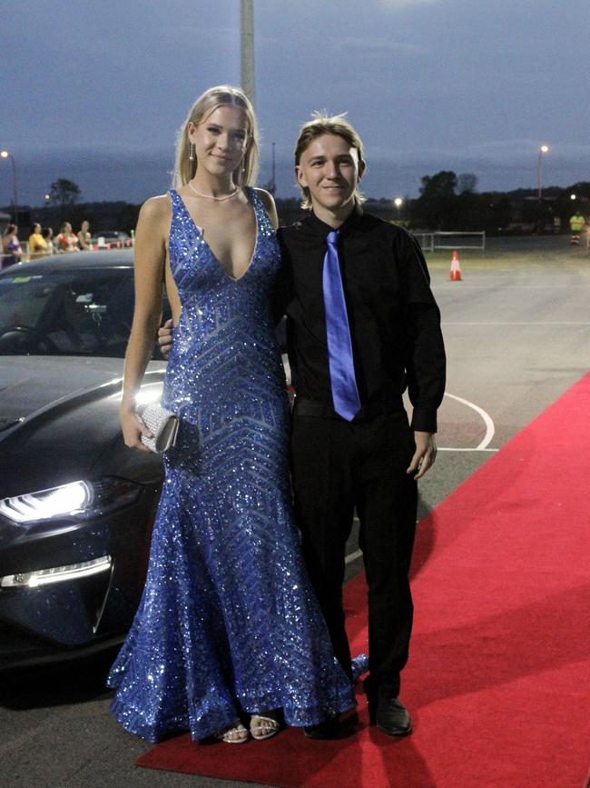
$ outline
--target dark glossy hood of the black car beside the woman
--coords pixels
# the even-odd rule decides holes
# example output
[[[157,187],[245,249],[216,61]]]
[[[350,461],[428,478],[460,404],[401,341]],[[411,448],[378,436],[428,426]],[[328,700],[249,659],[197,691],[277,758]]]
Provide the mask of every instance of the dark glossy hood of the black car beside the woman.
[[[123,361],[80,356],[0,358],[0,498],[118,475],[162,474],[156,454],[124,447]],[[163,362],[151,362],[140,396],[159,398]]]

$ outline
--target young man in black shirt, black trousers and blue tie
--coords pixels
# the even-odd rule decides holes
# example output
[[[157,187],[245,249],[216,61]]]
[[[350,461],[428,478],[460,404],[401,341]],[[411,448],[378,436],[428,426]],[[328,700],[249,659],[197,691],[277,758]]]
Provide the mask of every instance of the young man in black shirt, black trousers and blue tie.
[[[311,211],[279,231],[277,314],[288,316],[297,393],[293,485],[311,582],[334,651],[350,673],[342,582],[356,509],[369,584],[369,711],[385,733],[404,735],[411,721],[398,693],[412,625],[408,571],[416,483],[437,452],[433,434],[445,388],[445,352],[424,257],[405,230],[363,213],[364,170],[359,135],[342,116],[317,115],[301,128],[295,172]],[[337,255],[345,334],[348,318],[348,372],[334,357],[346,355],[342,345],[330,346],[330,331],[338,340],[342,325],[330,328],[328,253]],[[348,376],[352,394],[337,391],[341,375]],[[402,404],[406,387],[411,426]],[[343,416],[337,402],[350,396],[353,404]],[[329,735],[329,726],[308,733],[320,738]]]

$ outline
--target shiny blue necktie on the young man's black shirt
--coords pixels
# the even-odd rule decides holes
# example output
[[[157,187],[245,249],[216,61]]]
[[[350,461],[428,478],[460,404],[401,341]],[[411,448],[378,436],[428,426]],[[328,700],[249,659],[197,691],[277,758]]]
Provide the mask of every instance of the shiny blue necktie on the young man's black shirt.
[[[334,410],[351,422],[360,409],[359,390],[354,376],[352,343],[350,342],[349,316],[340,264],[338,259],[338,233],[332,231],[326,238],[328,251],[324,257],[322,277],[326,336],[328,338],[329,380],[332,387]]]

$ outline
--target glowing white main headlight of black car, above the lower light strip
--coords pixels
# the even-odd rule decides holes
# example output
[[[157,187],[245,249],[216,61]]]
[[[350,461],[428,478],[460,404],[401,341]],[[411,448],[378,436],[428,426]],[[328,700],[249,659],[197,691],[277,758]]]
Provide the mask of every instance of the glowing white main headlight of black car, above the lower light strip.
[[[0,500],[0,514],[15,524],[40,520],[88,520],[133,504],[142,488],[124,479],[71,482],[39,493]]]

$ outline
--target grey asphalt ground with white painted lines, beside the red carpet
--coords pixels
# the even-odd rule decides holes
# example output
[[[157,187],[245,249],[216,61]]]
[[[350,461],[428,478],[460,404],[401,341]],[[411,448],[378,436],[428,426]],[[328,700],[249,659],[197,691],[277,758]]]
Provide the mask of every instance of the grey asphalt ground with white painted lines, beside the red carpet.
[[[428,254],[448,382],[438,459],[420,483],[420,518],[587,373],[590,360],[590,252],[570,248],[566,236],[491,239],[485,254],[458,252],[460,282],[448,279],[450,252]],[[581,461],[579,447],[572,461]],[[353,534],[349,577],[361,569],[357,552]],[[243,784],[135,768],[149,745],[108,712],[112,693],[103,680],[111,659],[0,678],[3,785]]]

